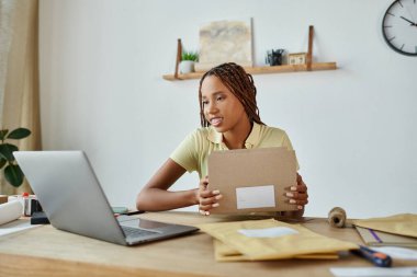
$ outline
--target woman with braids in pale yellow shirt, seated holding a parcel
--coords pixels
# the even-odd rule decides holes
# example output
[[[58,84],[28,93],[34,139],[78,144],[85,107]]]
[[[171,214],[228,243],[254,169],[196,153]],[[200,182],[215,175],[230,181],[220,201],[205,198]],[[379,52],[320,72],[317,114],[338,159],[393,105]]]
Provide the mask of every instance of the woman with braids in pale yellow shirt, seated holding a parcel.
[[[222,194],[207,189],[207,158],[212,151],[292,146],[285,131],[266,126],[256,102],[253,79],[233,62],[207,71],[200,81],[199,100],[202,128],[190,134],[142,189],[136,199],[140,210],[169,210],[199,205],[202,215],[218,207]],[[195,189],[169,192],[185,171],[198,171]],[[301,217],[308,203],[307,187],[297,174],[297,184],[285,194],[298,210],[284,216]]]

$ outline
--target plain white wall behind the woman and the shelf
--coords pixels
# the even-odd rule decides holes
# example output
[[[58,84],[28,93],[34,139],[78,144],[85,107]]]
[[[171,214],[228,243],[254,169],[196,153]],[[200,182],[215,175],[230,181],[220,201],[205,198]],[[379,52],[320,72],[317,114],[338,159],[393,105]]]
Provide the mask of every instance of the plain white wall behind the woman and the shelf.
[[[383,41],[393,0],[42,0],[43,146],[89,154],[112,205],[136,194],[199,127],[199,80],[168,82],[177,38],[201,23],[252,18],[253,54],[307,49],[335,71],[255,76],[261,118],[288,131],[309,186],[307,216],[417,212],[417,58]],[[196,187],[187,174],[174,189]],[[192,208],[195,210],[195,208]]]

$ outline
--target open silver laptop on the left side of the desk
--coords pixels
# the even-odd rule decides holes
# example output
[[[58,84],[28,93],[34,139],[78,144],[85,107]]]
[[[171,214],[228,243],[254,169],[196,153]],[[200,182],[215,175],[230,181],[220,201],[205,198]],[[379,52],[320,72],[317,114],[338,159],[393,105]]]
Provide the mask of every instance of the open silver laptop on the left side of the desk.
[[[115,218],[82,151],[15,151],[13,154],[52,226],[59,230],[122,245],[199,230],[127,216]]]

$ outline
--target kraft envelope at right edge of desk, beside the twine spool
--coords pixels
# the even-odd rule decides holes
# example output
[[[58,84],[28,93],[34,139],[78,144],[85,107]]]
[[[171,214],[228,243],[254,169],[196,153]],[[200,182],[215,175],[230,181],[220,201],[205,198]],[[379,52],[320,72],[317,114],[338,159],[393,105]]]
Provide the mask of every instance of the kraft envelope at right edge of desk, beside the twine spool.
[[[399,213],[391,217],[357,219],[354,226],[382,232],[417,238],[417,215]]]

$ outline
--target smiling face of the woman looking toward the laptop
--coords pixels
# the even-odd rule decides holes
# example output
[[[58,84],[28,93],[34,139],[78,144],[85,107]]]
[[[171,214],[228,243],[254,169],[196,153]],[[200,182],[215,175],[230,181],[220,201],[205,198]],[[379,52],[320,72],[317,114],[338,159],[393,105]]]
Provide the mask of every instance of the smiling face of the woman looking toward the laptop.
[[[244,105],[215,76],[208,76],[201,85],[205,119],[218,131],[234,130],[248,120]]]

